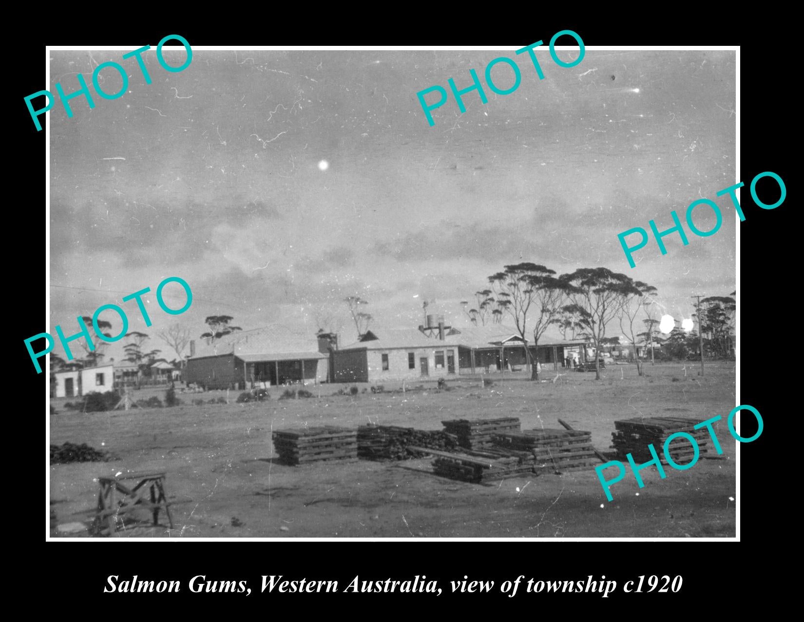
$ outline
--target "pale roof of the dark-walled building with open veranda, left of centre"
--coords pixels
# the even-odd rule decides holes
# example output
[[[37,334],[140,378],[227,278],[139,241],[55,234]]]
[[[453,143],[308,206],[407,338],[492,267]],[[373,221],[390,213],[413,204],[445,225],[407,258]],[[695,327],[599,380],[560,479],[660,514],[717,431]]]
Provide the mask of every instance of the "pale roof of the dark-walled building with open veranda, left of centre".
[[[318,339],[314,333],[280,324],[271,324],[250,331],[234,332],[211,344],[207,344],[207,340],[196,340],[195,356],[191,358],[234,354],[239,358],[257,355],[256,359],[252,357],[249,360],[277,360],[275,356],[278,354],[300,352],[315,352],[318,355]],[[272,358],[272,356],[274,357]],[[315,357],[318,358],[318,356]]]

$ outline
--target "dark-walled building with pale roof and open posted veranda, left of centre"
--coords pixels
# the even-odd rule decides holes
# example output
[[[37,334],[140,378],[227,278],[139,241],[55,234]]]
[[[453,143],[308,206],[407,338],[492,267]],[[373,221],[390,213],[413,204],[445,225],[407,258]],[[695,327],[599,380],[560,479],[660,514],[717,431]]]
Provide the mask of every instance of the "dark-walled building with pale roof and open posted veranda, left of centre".
[[[317,384],[328,379],[329,353],[311,332],[273,324],[219,340],[190,342],[183,377],[206,389]]]

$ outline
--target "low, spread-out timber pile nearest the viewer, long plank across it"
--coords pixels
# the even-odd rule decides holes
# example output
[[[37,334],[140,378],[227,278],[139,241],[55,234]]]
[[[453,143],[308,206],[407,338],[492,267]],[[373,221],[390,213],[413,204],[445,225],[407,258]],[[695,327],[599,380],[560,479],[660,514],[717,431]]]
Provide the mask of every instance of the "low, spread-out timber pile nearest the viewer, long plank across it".
[[[479,484],[489,480],[501,480],[518,473],[533,472],[533,455],[523,451],[507,451],[498,448],[488,451],[471,451],[448,454],[431,450],[437,457],[433,460],[433,473],[450,480]]]

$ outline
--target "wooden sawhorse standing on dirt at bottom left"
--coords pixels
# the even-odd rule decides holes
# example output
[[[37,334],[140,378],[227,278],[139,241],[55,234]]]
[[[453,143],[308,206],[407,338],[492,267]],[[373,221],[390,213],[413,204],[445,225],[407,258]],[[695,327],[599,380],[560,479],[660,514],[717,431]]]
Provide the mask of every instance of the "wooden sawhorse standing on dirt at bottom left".
[[[126,480],[139,481],[133,488],[123,484]],[[98,506],[95,517],[96,529],[100,530],[103,521],[109,521],[109,535],[117,531],[118,515],[136,509],[150,509],[154,516],[154,525],[159,524],[159,510],[164,508],[170,529],[173,529],[173,518],[170,517],[170,502],[165,494],[164,473],[121,473],[119,476],[102,476],[100,492],[98,492]],[[146,492],[150,490],[150,499]],[[122,496],[118,498],[117,492]]]

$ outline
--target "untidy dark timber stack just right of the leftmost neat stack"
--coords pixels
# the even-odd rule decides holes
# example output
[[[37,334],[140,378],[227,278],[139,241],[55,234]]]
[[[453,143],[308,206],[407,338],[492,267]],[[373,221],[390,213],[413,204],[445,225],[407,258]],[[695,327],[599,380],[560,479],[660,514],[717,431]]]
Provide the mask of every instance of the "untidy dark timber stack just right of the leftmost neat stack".
[[[407,451],[411,445],[422,449],[447,451],[455,447],[454,436],[443,430],[415,430],[400,426],[359,426],[357,455],[369,460],[404,460],[418,452]],[[420,455],[420,454],[419,454]]]

